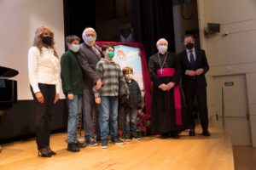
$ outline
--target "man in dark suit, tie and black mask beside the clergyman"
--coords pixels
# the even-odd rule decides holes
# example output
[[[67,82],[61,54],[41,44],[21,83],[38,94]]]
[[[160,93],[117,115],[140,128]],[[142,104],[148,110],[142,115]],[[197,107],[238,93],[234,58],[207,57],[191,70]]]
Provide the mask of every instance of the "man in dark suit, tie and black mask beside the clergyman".
[[[207,111],[207,80],[205,74],[209,71],[207,56],[204,50],[195,49],[195,37],[184,37],[185,50],[178,54],[182,68],[182,87],[185,94],[189,114],[189,136],[195,136],[194,105],[197,100],[201,119],[202,135],[211,136],[208,131]]]

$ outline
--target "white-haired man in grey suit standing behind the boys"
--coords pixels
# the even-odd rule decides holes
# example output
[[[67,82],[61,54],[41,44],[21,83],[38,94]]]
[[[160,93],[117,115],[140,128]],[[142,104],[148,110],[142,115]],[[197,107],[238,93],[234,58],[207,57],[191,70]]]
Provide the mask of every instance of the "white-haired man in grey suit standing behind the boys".
[[[83,92],[83,114],[84,114],[84,131],[85,142],[89,146],[98,145],[93,138],[94,120],[96,119],[96,103],[93,93],[93,88],[100,89],[102,80],[96,74],[96,64],[102,58],[101,48],[96,42],[96,31],[91,28],[85,28],[83,35],[84,43],[80,44],[78,59],[84,74],[84,92]],[[95,119],[94,119],[95,118]],[[96,133],[99,134],[96,122]],[[100,136],[97,136],[100,138]]]

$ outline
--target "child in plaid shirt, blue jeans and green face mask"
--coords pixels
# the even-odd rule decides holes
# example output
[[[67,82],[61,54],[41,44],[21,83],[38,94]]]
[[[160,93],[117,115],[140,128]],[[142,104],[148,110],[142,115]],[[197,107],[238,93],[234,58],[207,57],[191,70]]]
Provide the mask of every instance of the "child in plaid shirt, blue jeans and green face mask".
[[[103,45],[101,59],[96,65],[96,72],[102,79],[102,88],[94,89],[96,104],[100,104],[99,125],[101,129],[102,148],[108,148],[110,129],[113,144],[124,144],[118,134],[119,84],[125,84],[125,78],[118,64],[113,61],[114,48]],[[127,86],[126,86],[127,88]],[[109,128],[110,126],[110,128]]]

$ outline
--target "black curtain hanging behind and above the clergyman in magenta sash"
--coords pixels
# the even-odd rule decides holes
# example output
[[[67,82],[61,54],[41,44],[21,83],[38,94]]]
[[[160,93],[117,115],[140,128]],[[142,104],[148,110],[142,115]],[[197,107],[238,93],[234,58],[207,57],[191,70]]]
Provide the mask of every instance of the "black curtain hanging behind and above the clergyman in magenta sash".
[[[172,0],[133,0],[132,5],[135,42],[143,43],[147,59],[157,52],[155,43],[160,37],[175,52]]]

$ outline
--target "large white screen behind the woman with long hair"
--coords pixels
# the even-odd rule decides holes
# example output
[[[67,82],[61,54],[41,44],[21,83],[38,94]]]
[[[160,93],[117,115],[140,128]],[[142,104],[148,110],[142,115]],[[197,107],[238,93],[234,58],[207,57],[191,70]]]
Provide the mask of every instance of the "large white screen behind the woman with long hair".
[[[65,50],[62,0],[0,0],[0,65],[20,72],[18,99],[32,99],[27,73],[27,51],[38,26],[55,31],[57,53]]]

